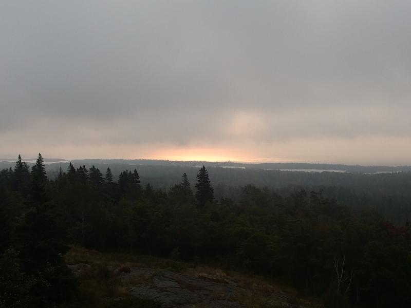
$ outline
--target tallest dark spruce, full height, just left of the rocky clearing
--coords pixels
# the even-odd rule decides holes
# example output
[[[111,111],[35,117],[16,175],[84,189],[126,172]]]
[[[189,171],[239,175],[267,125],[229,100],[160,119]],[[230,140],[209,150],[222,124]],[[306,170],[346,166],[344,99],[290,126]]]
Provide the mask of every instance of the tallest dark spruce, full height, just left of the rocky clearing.
[[[32,307],[57,306],[76,292],[76,280],[64,263],[69,247],[64,243],[65,230],[48,203],[44,160],[41,154],[31,169],[28,203],[31,205],[24,222],[17,227],[19,259],[25,273],[35,278],[30,293]]]

